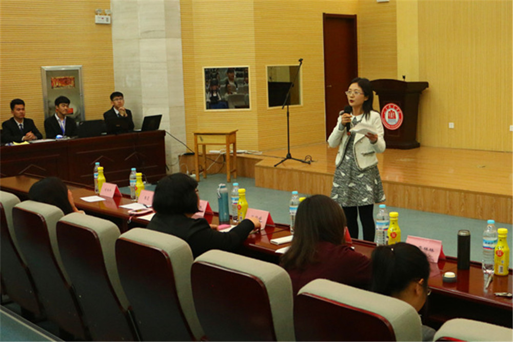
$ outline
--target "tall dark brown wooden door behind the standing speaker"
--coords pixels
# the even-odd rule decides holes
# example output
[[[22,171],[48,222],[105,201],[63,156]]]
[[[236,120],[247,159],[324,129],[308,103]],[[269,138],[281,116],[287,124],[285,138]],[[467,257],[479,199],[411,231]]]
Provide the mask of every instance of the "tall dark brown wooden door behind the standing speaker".
[[[326,138],[347,106],[345,91],[358,76],[356,15],[323,13]]]

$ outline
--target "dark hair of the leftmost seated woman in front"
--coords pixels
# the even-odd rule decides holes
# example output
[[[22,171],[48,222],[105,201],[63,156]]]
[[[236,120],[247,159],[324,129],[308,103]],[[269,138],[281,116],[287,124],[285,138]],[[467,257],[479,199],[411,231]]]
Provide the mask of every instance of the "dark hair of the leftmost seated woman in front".
[[[47,177],[38,180],[30,187],[29,198],[36,202],[58,207],[65,215],[73,212],[73,208],[69,203],[68,187],[57,177]]]

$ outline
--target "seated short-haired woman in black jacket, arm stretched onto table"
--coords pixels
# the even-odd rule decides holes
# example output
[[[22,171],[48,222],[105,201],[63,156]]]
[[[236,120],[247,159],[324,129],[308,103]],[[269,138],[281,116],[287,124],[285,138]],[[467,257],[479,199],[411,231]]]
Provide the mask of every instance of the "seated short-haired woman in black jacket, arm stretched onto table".
[[[211,227],[205,218],[192,218],[200,203],[196,187],[198,182],[183,173],[159,180],[153,195],[156,214],[147,228],[184,239],[194,257],[211,249],[234,250],[253,229],[260,228],[259,220],[252,217],[223,233],[215,230],[215,226]]]

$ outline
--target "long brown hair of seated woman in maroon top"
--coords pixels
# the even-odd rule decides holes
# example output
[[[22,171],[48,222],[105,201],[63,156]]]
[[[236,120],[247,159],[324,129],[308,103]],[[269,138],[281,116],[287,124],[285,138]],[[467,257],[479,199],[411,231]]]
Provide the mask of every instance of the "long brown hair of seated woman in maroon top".
[[[298,207],[294,238],[281,258],[282,266],[285,269],[304,269],[315,263],[319,242],[345,244],[346,225],[344,210],[333,199],[325,195],[305,198]]]

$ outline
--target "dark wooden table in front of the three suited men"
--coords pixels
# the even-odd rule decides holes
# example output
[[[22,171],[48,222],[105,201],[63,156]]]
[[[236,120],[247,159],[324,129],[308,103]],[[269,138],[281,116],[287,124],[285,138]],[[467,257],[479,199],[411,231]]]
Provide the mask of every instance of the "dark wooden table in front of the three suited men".
[[[166,175],[164,131],[133,132],[90,138],[62,139],[0,147],[0,175],[57,176],[93,185],[93,167],[100,162],[107,182],[128,185],[131,168],[156,182]]]

